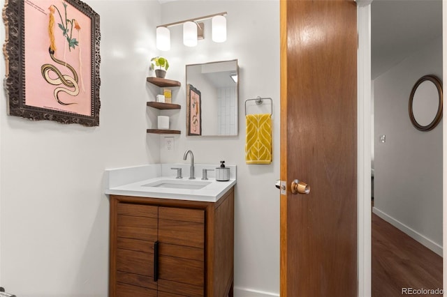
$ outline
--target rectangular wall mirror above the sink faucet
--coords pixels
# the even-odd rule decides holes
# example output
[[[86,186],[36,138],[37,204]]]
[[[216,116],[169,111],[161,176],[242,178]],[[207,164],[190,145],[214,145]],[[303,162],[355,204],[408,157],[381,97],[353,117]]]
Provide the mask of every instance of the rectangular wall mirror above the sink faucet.
[[[237,60],[186,65],[187,135],[237,135],[238,75]]]

